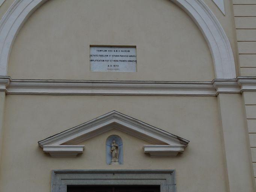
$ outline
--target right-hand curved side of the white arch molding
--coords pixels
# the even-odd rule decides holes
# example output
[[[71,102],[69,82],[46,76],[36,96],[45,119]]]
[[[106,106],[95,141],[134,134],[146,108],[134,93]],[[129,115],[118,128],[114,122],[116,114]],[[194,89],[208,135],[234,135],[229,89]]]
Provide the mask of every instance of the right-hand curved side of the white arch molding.
[[[235,61],[229,39],[214,13],[203,0],[172,0],[197,24],[211,50],[215,78],[236,78]]]

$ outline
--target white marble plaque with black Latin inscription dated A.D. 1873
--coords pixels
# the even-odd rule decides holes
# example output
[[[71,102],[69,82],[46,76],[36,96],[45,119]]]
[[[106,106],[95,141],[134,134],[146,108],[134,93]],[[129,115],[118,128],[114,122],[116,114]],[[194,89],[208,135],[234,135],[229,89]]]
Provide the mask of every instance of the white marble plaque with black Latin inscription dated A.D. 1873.
[[[91,46],[90,70],[98,72],[136,72],[136,47]]]

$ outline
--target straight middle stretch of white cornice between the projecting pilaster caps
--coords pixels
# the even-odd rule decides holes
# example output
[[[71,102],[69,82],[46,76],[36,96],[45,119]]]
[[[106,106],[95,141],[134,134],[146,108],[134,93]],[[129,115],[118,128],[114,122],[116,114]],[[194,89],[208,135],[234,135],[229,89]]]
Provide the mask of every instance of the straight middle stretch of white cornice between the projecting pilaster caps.
[[[215,96],[216,91],[211,82],[11,80],[6,88],[6,93]]]

